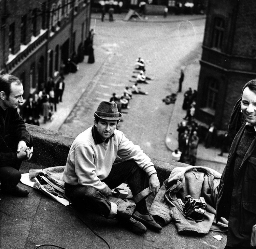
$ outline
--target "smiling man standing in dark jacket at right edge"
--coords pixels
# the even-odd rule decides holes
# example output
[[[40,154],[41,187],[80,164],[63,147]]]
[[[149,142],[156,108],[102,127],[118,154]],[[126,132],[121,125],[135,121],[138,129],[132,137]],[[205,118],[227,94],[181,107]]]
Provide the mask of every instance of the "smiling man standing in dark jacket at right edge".
[[[242,89],[241,101],[231,115],[230,134],[241,123],[240,112],[244,121],[234,137],[218,188],[216,220],[224,217],[229,221],[226,249],[252,248],[251,233],[256,224],[256,79]]]

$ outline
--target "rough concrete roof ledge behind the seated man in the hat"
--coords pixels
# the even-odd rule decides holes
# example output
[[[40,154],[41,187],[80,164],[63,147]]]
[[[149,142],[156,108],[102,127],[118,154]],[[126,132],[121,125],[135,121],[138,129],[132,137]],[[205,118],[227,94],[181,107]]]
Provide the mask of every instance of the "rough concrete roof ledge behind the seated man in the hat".
[[[24,162],[23,165],[29,169],[45,169],[48,167],[61,166],[66,164],[69,149],[75,136],[69,136],[60,132],[47,130],[40,126],[26,124],[28,131],[33,137],[34,151],[31,161]],[[174,167],[186,167],[185,163],[173,160],[159,160],[150,156],[155,164],[160,184],[166,180]],[[122,160],[117,158],[116,161]]]

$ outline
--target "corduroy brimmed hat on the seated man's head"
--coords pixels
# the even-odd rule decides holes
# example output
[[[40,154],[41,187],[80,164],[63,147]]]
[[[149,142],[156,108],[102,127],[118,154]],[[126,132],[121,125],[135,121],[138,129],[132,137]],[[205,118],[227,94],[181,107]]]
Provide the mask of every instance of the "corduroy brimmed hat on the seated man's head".
[[[118,112],[117,104],[114,101],[101,101],[94,117],[105,120],[120,120],[123,115]]]

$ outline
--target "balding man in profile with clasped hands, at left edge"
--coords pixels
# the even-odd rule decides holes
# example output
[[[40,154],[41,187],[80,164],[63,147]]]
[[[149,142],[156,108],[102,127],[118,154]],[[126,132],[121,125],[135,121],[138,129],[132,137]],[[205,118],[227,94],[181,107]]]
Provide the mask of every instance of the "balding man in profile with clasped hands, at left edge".
[[[11,74],[0,75],[0,177],[1,194],[26,196],[29,191],[17,186],[23,160],[32,157],[33,140],[17,112],[23,103],[22,82]]]

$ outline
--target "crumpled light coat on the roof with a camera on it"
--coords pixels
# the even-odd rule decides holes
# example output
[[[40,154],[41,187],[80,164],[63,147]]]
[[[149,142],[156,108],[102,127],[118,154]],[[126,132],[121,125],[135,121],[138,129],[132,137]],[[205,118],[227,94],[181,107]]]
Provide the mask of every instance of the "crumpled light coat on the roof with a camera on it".
[[[210,229],[225,232],[227,230],[226,220],[223,220],[219,226],[216,226],[214,222],[217,187],[220,178],[220,173],[208,167],[176,167],[157,193],[150,213],[156,220],[160,220],[162,225],[173,221],[179,233],[207,234]],[[195,222],[193,219],[185,217],[177,198],[184,199],[187,195],[196,199],[204,197],[207,207],[203,221]]]

